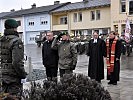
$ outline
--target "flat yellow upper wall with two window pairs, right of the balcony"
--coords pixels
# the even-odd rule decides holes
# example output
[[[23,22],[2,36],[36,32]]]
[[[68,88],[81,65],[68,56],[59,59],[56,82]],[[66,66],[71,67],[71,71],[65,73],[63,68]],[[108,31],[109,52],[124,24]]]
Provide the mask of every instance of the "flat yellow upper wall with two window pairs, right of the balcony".
[[[100,10],[101,18],[100,20],[91,21],[91,11]],[[82,12],[82,22],[74,22],[73,14],[76,12],[71,12],[71,30],[76,29],[93,29],[93,28],[106,28],[111,27],[111,18],[110,18],[110,7],[97,8],[97,9],[89,9]]]

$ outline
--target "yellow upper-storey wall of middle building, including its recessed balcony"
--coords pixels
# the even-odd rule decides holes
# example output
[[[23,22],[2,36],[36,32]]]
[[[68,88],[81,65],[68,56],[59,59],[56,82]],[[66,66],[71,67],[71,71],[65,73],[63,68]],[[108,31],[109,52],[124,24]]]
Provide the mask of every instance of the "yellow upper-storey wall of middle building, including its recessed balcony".
[[[90,11],[100,10],[100,20],[91,21]],[[74,22],[74,13],[82,12],[82,22]],[[96,14],[96,13],[95,13]],[[59,24],[60,17],[67,16],[68,24]],[[96,17],[96,16],[95,16]],[[73,11],[62,13],[53,13],[51,17],[51,30],[80,30],[80,29],[98,29],[98,28],[110,28],[111,27],[111,15],[110,7],[92,8],[87,10]]]

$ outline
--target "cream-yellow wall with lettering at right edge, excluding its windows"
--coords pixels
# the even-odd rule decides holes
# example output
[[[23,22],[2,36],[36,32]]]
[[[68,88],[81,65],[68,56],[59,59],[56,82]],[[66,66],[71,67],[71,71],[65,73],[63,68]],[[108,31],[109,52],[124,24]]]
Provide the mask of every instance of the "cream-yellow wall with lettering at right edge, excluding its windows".
[[[122,25],[125,25],[126,18],[133,23],[133,16],[129,15],[129,0],[126,0],[126,12],[121,13],[120,0],[111,0],[111,30],[115,31],[114,26],[118,26],[118,33],[123,32]]]

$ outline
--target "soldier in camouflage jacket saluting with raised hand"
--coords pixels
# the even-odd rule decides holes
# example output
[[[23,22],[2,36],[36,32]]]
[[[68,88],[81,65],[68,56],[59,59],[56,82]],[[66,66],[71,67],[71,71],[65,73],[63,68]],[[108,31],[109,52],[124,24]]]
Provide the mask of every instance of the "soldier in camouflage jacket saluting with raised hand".
[[[60,38],[62,40],[59,43]],[[77,64],[77,50],[74,43],[70,42],[68,32],[62,32],[55,37],[52,48],[58,50],[60,77],[63,77],[63,74],[73,73]]]

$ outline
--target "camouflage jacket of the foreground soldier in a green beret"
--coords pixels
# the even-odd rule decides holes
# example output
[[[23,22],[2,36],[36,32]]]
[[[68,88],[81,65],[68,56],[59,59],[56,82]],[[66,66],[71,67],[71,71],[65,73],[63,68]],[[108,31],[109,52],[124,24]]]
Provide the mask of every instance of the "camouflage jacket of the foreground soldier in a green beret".
[[[11,29],[5,30],[0,39],[1,77],[4,82],[16,82],[26,77],[23,59],[24,46],[18,33]]]

